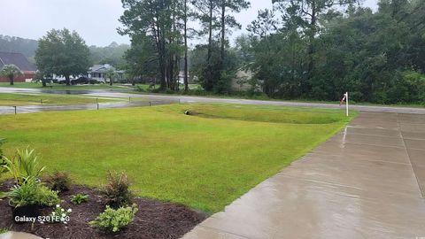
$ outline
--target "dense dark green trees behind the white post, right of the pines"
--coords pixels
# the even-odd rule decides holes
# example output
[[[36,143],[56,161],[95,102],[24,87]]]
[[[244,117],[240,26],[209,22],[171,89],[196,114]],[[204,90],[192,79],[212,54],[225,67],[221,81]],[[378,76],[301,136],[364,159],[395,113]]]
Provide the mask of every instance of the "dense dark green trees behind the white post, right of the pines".
[[[260,12],[245,38],[250,68],[268,96],[337,100],[350,91],[357,102],[425,101],[425,2],[382,0],[377,12],[353,4],[345,13],[323,11],[313,37],[293,4],[278,6],[282,21]]]

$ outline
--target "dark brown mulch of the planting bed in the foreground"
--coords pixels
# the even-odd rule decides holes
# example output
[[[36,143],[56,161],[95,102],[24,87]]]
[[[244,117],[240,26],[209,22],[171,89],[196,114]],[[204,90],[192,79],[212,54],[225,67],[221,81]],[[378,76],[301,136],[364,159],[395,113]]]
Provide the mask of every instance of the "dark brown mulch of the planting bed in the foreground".
[[[0,191],[7,191],[12,182],[7,181],[0,185]],[[80,205],[70,203],[70,196],[77,193],[89,195],[89,202]],[[188,207],[179,204],[163,203],[151,199],[135,198],[139,211],[135,220],[127,228],[114,235],[108,235],[96,228],[89,227],[88,222],[95,220],[104,206],[99,202],[97,189],[74,185],[71,190],[59,195],[64,202],[61,204],[66,210],[71,208],[68,224],[40,224],[36,222],[23,225],[15,224],[12,220],[12,211],[6,199],[0,200],[0,228],[11,227],[12,231],[32,233],[42,238],[146,238],[172,239],[181,238],[198,223],[205,220],[206,215],[194,212]],[[47,215],[50,208],[42,210]]]

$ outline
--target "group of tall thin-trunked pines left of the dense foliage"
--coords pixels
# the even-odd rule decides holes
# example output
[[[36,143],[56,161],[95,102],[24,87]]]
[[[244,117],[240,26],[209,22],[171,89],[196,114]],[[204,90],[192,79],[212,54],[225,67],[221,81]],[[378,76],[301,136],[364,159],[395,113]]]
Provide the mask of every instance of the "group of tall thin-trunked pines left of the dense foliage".
[[[240,24],[232,15],[250,6],[244,0],[122,0],[121,35],[131,37],[128,71],[142,77],[158,78],[161,89],[179,89],[182,68],[184,90],[188,90],[188,40],[205,37],[205,64],[198,72],[205,90],[228,89],[234,72],[227,64],[228,33]],[[192,29],[188,23],[202,26]]]

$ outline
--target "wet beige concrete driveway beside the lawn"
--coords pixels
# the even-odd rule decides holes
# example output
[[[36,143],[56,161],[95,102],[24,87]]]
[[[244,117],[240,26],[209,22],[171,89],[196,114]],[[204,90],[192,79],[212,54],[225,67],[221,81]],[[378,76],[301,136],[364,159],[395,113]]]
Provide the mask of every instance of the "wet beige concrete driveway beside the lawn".
[[[424,155],[425,115],[361,112],[183,238],[424,238]]]

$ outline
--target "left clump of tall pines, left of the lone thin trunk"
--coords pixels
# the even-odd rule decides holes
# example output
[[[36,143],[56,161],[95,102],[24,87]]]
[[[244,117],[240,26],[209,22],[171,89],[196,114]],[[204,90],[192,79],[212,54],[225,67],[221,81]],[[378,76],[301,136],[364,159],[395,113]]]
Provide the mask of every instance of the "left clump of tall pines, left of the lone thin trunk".
[[[145,54],[153,53],[131,61],[129,67],[134,68],[132,65],[137,63],[143,67],[156,61],[161,88],[178,89],[178,63],[184,51],[181,35],[184,4],[181,0],[121,2],[125,11],[120,18],[124,26],[120,34],[132,38],[132,50],[142,48]]]

